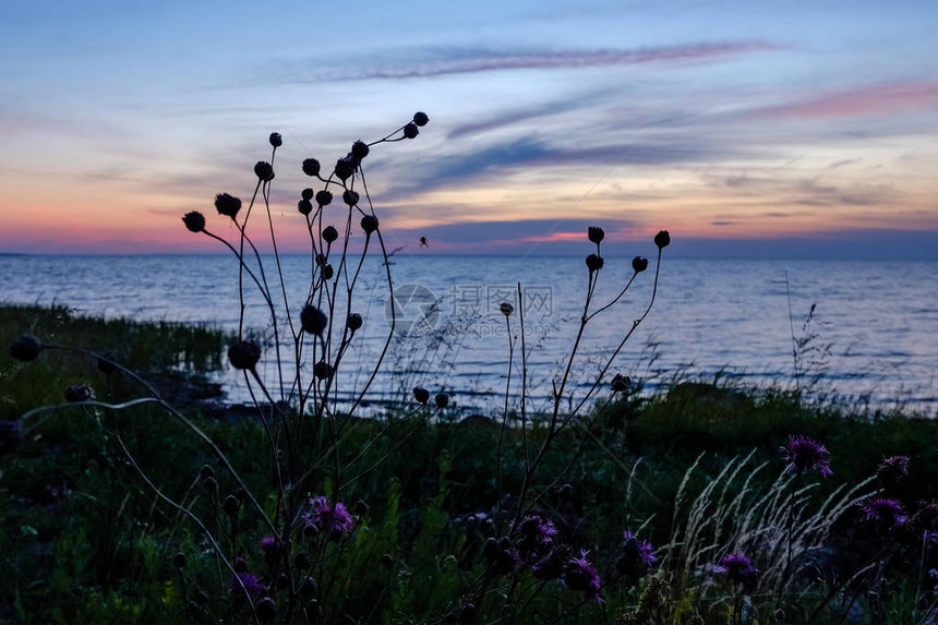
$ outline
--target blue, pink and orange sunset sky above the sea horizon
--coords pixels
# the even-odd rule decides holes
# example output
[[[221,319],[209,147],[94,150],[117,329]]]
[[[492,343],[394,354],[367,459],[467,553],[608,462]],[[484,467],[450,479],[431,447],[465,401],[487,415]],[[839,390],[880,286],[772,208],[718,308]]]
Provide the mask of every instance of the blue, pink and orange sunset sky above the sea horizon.
[[[0,3],[0,253],[218,252],[213,200],[374,146],[404,252],[938,259],[938,3]],[[327,221],[341,218],[338,203]],[[257,224],[257,235],[262,235]]]

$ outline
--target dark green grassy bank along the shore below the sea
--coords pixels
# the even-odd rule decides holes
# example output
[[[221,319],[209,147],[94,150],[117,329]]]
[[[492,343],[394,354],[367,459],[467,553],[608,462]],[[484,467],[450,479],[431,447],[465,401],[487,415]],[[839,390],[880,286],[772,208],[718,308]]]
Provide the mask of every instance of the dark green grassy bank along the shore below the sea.
[[[145,376],[176,380],[161,386],[170,392],[182,384],[170,371],[220,366],[228,340],[206,328],[75,316],[64,307],[2,307],[0,321],[3,345],[31,333],[46,342],[109,351]],[[47,351],[31,363],[0,357],[4,422],[62,402],[63,388],[77,382],[109,404],[141,395],[139,385],[103,373],[93,359]],[[275,514],[276,468],[262,424],[213,419],[197,402],[183,404]],[[0,586],[0,623],[243,617],[237,589],[228,587],[199,526],[156,496],[134,464],[221,537],[276,596],[278,566],[258,548],[268,534],[261,516],[240,504],[234,515],[226,512],[229,495],[241,500],[239,485],[184,422],[158,406],[74,406],[50,414],[39,426],[23,423],[22,441],[2,445],[0,557],[8,582]],[[548,428],[537,418],[522,431],[503,429],[497,413],[461,422],[445,416],[416,407],[406,416],[345,424],[336,455],[342,470],[317,467],[317,482],[326,491],[335,474],[344,476],[342,497],[357,528],[324,548],[316,566],[292,563],[291,575],[315,579],[308,622],[727,623],[746,604],[746,622],[926,622],[922,606],[930,587],[919,574],[935,562],[922,555],[922,534],[867,524],[857,502],[878,492],[912,517],[925,509],[916,502],[938,497],[938,429],[930,420],[870,419],[847,405],[799,406],[781,390],[701,383],[678,383],[653,397],[618,394],[561,432],[528,492],[532,509],[555,527],[556,542],[589,551],[604,580],[604,603],[519,568],[492,577],[497,592],[472,603],[469,614],[469,589],[493,567],[485,541],[510,531],[524,443],[537,449]],[[327,426],[297,433],[297,444],[325,449]],[[823,441],[833,476],[786,474],[779,448],[791,434]],[[907,476],[867,481],[885,457],[900,455],[909,458]],[[799,494],[786,516],[791,492]],[[825,502],[832,503],[825,508]],[[817,536],[813,519],[823,521]],[[759,525],[743,527],[749,521]],[[810,564],[801,562],[799,576],[784,579],[780,553],[793,527],[807,528],[802,557]],[[650,541],[658,561],[640,570],[617,566],[624,530]],[[328,538],[298,532],[293,540]],[[737,581],[714,568],[743,545],[762,573],[745,597]],[[534,557],[521,555],[525,566]],[[876,594],[862,587],[865,573],[851,579],[870,558],[885,580]],[[784,592],[775,592],[782,585]],[[828,598],[832,590],[837,596]]]

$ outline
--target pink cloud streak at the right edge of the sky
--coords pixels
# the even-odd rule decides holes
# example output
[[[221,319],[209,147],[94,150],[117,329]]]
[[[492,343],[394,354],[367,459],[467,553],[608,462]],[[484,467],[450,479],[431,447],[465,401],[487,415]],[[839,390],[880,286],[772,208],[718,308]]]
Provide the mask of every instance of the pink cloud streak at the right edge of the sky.
[[[830,119],[866,117],[938,106],[938,83],[890,83],[831,93],[774,107],[771,117]]]

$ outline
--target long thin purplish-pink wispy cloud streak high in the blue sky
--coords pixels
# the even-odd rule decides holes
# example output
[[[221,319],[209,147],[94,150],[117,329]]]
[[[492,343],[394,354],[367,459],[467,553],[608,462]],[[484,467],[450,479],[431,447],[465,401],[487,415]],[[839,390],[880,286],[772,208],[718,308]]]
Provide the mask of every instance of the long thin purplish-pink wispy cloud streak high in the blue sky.
[[[387,60],[329,70],[306,68],[322,63],[294,63],[293,71],[281,77],[287,82],[339,82],[368,80],[425,79],[453,74],[498,72],[506,70],[560,70],[610,68],[662,62],[709,61],[720,58],[779,49],[765,41],[718,41],[680,46],[650,46],[630,49],[599,50],[493,50],[433,48],[418,53],[383,56]],[[395,58],[397,57],[397,58]]]

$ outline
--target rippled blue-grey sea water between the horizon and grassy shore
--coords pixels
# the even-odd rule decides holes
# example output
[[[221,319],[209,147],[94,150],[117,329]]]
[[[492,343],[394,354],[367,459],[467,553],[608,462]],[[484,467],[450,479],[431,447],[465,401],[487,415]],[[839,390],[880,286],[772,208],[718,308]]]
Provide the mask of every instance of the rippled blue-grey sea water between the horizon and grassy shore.
[[[296,315],[309,289],[310,259],[285,256],[282,264]],[[275,283],[273,259],[265,269]],[[519,308],[520,283],[533,407],[546,405],[551,381],[563,372],[582,314],[587,271],[581,259],[418,254],[394,257],[390,271],[398,334],[370,399],[401,397],[419,384],[452,393],[462,407],[501,411],[510,340],[498,304],[513,301]],[[612,299],[630,275],[628,259],[606,259],[590,310]],[[741,384],[792,385],[794,320],[796,337],[814,336],[803,368],[809,374],[823,373],[819,389],[874,408],[904,405],[935,413],[936,275],[935,262],[665,259],[654,305],[610,371],[639,378],[650,388],[675,376],[718,375]],[[362,314],[364,326],[344,360],[341,371],[347,373],[338,382],[342,396],[368,378],[388,334],[385,269],[377,260],[366,261],[360,276],[350,309]],[[589,387],[641,315],[652,278],[653,266],[618,303],[587,325],[574,366],[575,393]],[[0,256],[0,298],[14,303],[55,301],[111,317],[197,322],[236,330],[239,325],[238,265],[226,256]],[[281,337],[288,336],[282,296],[275,299]],[[814,318],[804,328],[813,304]],[[252,290],[245,315],[246,325],[269,341],[266,305]],[[517,335],[517,313],[512,320]],[[289,337],[282,342],[289,361],[292,342]],[[274,352],[268,344],[263,361],[263,376],[272,386],[277,380]],[[513,396],[520,380],[519,360],[516,342]],[[221,377],[229,400],[248,399],[233,371]]]

